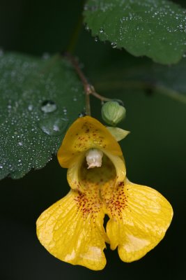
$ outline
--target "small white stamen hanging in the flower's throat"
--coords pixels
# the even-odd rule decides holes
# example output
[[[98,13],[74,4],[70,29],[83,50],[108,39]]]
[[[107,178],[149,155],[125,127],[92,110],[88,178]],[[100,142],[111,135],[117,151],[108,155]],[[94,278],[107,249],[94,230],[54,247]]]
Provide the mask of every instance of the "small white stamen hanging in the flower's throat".
[[[102,166],[103,153],[97,149],[91,149],[86,153],[86,162],[89,168],[101,167]]]

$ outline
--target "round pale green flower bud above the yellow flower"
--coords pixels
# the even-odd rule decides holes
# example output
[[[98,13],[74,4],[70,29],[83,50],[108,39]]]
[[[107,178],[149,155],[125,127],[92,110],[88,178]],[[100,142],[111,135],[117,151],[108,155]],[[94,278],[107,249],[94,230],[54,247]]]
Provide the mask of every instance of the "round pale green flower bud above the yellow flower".
[[[116,126],[125,118],[125,115],[125,107],[118,104],[118,102],[110,101],[102,106],[102,119],[109,125]]]

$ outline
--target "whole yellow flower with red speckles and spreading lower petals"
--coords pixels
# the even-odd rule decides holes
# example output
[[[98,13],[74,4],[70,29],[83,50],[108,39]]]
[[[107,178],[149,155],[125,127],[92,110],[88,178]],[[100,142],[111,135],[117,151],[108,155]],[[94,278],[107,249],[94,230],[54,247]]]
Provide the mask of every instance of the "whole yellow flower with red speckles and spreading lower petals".
[[[171,205],[153,188],[126,178],[121,148],[98,120],[77,119],[58,159],[68,168],[71,190],[38,218],[38,239],[49,253],[72,265],[100,270],[106,265],[105,242],[112,250],[118,247],[121,260],[132,262],[164,237],[173,216]]]

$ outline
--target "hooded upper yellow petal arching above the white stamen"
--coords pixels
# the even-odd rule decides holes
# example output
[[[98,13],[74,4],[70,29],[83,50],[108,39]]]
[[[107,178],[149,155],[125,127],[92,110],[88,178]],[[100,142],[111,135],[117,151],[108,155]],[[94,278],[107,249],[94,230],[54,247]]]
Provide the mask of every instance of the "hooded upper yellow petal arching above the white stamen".
[[[72,167],[79,155],[90,148],[122,155],[120,146],[107,128],[95,118],[86,116],[75,120],[65,134],[57,154],[61,167]]]

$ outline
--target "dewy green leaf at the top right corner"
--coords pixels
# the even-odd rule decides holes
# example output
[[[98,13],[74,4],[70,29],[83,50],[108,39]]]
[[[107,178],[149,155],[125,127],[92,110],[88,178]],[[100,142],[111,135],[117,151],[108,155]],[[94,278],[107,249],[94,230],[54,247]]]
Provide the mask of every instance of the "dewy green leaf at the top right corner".
[[[178,62],[186,50],[186,10],[166,0],[88,0],[86,29],[112,48],[155,62]]]

